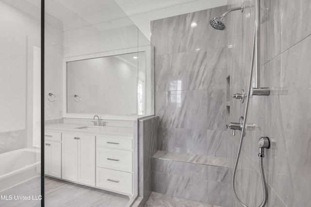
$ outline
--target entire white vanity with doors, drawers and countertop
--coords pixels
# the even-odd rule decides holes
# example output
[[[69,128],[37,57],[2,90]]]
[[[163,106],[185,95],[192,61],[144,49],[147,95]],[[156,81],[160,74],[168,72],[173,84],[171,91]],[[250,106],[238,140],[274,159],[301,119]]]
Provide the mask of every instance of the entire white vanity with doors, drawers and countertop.
[[[87,129],[70,124],[54,127],[45,132],[46,175],[129,197],[133,195],[131,128]],[[115,132],[111,132],[113,130]]]

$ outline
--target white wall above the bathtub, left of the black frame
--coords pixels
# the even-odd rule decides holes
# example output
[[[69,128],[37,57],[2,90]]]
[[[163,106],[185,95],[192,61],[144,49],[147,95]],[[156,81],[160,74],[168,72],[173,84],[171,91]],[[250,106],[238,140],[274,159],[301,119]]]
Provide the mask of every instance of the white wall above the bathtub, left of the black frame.
[[[0,132],[26,128],[27,70],[40,46],[40,19],[0,1]]]

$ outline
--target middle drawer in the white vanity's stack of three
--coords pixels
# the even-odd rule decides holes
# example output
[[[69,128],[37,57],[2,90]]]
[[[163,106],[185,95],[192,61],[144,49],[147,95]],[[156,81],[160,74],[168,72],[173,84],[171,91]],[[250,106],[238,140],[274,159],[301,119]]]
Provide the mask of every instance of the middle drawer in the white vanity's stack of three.
[[[96,148],[96,166],[131,173],[133,171],[132,151]]]

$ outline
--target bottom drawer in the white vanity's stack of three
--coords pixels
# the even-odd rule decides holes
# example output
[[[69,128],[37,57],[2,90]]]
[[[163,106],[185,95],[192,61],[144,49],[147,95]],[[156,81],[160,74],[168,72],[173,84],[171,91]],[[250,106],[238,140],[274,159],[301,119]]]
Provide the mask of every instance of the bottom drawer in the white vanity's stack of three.
[[[96,187],[125,194],[133,194],[132,173],[97,168]]]

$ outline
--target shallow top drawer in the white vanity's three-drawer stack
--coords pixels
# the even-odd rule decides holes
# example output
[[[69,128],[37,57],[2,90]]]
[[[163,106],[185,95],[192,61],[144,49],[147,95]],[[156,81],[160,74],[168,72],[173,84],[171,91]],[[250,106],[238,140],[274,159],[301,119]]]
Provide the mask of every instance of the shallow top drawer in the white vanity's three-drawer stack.
[[[102,147],[132,150],[133,139],[96,137],[96,145]]]

